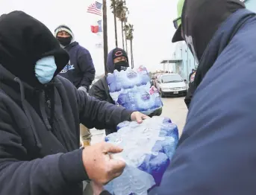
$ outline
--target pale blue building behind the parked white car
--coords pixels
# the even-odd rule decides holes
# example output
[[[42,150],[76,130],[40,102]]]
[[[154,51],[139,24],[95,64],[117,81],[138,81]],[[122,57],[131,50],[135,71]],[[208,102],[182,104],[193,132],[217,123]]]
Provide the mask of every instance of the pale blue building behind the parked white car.
[[[246,4],[246,8],[256,12],[256,0],[241,0]],[[180,74],[181,77],[188,80],[188,76],[193,68],[197,68],[193,54],[187,47],[186,42],[178,42],[171,59],[162,60],[164,71],[172,71]]]

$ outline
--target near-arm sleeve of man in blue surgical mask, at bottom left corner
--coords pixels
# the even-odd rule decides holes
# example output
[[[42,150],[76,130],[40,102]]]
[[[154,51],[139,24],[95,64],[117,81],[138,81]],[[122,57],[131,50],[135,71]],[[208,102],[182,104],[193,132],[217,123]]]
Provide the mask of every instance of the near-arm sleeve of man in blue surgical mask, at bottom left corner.
[[[66,184],[87,179],[82,150],[25,160],[27,151],[7,108],[0,105],[0,194],[61,194]]]

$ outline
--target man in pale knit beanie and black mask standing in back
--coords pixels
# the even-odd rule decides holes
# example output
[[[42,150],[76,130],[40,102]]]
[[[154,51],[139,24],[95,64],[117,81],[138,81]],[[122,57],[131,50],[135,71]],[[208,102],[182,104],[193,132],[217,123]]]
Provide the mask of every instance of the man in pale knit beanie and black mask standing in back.
[[[69,53],[69,63],[60,71],[60,76],[65,77],[78,90],[88,92],[95,78],[95,68],[90,52],[75,42],[74,34],[66,25],[60,25],[54,31],[60,46]],[[80,125],[81,144],[90,145],[91,133],[87,127]]]

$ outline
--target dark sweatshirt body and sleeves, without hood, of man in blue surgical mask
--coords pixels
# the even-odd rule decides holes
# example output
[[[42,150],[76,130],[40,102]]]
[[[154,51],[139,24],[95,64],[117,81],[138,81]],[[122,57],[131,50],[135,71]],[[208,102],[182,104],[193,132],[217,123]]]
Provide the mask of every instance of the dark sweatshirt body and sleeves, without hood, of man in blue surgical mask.
[[[0,194],[81,194],[87,174],[78,150],[79,124],[115,128],[131,112],[88,97],[57,77],[50,122],[45,91],[0,70]]]

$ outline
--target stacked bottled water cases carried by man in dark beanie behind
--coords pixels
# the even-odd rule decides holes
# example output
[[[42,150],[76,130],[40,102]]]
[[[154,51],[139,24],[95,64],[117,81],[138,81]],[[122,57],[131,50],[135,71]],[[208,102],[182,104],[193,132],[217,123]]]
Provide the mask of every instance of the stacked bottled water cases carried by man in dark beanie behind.
[[[144,66],[137,70],[115,70],[113,74],[107,74],[107,84],[116,104],[126,109],[149,115],[163,106],[157,89],[150,87],[149,73]]]

